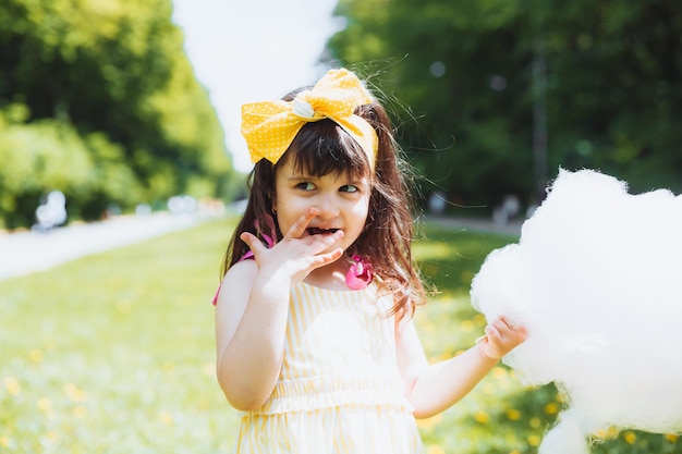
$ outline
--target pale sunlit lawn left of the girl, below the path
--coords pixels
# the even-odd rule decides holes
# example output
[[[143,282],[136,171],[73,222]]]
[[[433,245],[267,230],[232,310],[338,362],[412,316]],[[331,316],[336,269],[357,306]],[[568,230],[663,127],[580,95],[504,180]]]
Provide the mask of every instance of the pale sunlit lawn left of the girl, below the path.
[[[231,233],[204,224],[0,282],[0,452],[217,453],[212,292]]]

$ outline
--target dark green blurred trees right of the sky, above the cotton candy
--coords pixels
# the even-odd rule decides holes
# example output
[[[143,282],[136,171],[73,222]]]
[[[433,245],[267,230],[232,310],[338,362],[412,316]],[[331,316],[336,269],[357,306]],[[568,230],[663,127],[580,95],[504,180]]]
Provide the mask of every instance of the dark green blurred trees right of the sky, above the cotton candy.
[[[401,142],[424,192],[538,201],[560,165],[682,189],[682,3],[340,0],[336,13],[348,26],[329,53],[416,119]]]

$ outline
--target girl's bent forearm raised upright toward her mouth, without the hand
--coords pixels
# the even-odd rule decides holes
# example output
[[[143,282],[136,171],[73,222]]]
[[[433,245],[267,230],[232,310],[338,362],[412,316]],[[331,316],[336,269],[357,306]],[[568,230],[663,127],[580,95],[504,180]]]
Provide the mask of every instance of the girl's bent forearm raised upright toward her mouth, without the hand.
[[[234,335],[218,356],[218,382],[230,404],[249,412],[268,398],[282,364],[289,291],[254,285]]]

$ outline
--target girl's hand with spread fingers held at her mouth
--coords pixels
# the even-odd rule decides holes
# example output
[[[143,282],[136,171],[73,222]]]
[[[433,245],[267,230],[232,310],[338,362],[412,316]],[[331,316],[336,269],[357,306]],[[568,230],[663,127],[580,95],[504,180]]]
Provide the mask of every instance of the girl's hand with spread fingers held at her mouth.
[[[300,282],[314,269],[329,265],[343,255],[342,248],[322,254],[324,250],[343,237],[341,230],[327,235],[303,236],[308,224],[317,214],[316,208],[308,209],[289,229],[282,241],[269,249],[248,232],[242,233],[240,238],[254,253],[256,265],[261,272],[282,272],[292,283]]]

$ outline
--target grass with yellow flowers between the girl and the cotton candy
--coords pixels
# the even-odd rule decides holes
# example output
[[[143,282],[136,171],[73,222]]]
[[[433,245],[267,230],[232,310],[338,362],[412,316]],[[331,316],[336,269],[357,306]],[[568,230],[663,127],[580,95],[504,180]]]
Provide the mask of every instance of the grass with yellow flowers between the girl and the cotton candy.
[[[517,237],[434,226],[423,235],[426,240],[416,242],[415,256],[437,293],[417,311],[416,323],[427,356],[448,358],[473,345],[486,324],[470,304],[472,279],[490,250]],[[537,452],[559,404],[553,386],[527,391],[507,367],[496,367],[455,406],[417,421],[427,452]]]

